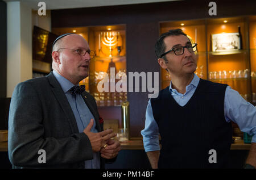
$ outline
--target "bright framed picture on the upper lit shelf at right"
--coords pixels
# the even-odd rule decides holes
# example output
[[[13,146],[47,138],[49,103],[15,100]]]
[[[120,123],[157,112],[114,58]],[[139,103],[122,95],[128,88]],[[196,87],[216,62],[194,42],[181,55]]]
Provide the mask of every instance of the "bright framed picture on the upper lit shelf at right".
[[[233,54],[240,49],[240,35],[238,32],[212,34],[212,51],[221,55]]]

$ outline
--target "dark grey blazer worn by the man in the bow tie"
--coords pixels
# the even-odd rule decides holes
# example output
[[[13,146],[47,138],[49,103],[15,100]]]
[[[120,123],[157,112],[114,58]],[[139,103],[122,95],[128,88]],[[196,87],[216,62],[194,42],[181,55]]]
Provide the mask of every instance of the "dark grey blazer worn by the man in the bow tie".
[[[94,98],[86,91],[82,97],[98,132],[103,131]],[[85,133],[79,133],[68,99],[52,72],[15,87],[8,139],[13,168],[84,168],[84,161],[93,158],[90,141]],[[39,149],[46,151],[45,164],[38,162]],[[105,159],[101,158],[101,168],[104,165]]]

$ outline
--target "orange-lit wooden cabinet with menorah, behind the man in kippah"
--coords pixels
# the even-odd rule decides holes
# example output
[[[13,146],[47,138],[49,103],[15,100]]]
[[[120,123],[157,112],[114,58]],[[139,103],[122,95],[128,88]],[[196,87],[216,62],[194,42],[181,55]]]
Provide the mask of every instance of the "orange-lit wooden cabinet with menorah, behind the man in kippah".
[[[96,56],[90,61],[89,77],[83,79],[80,85],[85,85],[99,107],[121,106],[127,100],[127,93],[118,92],[115,84],[119,81],[117,76],[126,76],[126,26],[53,28],[52,31],[58,35],[75,32],[88,41]],[[114,68],[112,72],[111,68]],[[99,86],[100,82],[102,85]]]

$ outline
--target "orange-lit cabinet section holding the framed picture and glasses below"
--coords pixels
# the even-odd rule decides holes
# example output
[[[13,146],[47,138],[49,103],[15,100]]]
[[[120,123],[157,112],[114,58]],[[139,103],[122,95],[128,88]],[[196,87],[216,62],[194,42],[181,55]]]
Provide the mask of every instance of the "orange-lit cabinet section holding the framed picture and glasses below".
[[[237,90],[246,101],[252,102],[247,26],[247,17],[207,21],[208,79],[213,82],[227,83],[232,89]],[[237,36],[239,28],[241,35]],[[212,35],[220,35],[222,40],[213,39]],[[222,43],[225,40],[228,43],[231,42],[231,50],[228,49],[228,43]],[[220,41],[219,44],[224,44],[223,48],[227,49],[214,51],[212,41],[215,44]]]

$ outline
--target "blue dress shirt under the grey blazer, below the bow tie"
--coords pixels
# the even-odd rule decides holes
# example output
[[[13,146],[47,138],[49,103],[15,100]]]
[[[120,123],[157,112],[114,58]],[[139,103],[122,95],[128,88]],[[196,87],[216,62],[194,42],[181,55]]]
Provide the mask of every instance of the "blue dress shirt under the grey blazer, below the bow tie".
[[[76,118],[77,127],[79,129],[79,132],[84,132],[84,129],[87,127],[87,125],[90,122],[90,119],[94,120],[94,117],[92,115],[92,112],[90,112],[89,108],[87,107],[86,103],[84,102],[84,99],[82,99],[81,95],[77,95],[76,97],[73,97],[71,93],[68,92],[71,87],[75,86],[72,82],[68,81],[68,79],[60,76],[59,73],[57,73],[55,70],[53,70],[53,74],[57,81],[59,81],[60,86],[62,87],[68,102],[72,108],[73,114]],[[91,129],[91,132],[98,132],[96,128],[96,122],[94,120],[93,127]],[[81,152],[86,153],[86,152]],[[93,160],[87,160],[85,161],[85,169],[100,169],[100,153],[93,152]]]

